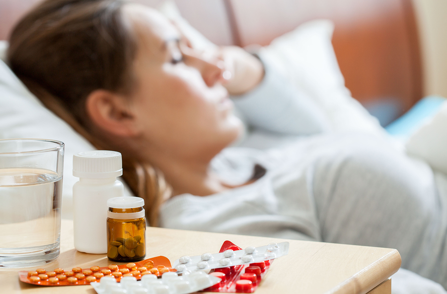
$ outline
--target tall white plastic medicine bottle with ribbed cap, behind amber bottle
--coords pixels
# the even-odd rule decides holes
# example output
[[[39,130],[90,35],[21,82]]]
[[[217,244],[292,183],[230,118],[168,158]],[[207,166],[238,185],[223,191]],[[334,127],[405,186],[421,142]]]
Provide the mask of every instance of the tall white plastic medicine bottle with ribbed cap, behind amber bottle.
[[[73,156],[74,248],[85,253],[107,253],[107,200],[124,196],[121,153],[83,151]]]

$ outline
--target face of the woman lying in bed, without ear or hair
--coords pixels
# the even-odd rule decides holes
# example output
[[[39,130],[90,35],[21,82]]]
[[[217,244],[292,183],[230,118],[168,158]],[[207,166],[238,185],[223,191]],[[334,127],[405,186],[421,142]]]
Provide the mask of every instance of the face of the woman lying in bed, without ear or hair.
[[[152,147],[187,156],[219,152],[241,132],[223,82],[219,60],[187,46],[157,11],[128,4],[139,47],[130,99],[140,134]],[[205,154],[203,154],[205,155]]]

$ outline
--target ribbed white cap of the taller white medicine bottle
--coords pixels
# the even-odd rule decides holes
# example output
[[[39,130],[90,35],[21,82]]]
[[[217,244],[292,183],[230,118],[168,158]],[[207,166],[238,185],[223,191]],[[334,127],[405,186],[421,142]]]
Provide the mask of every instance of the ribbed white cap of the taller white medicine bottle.
[[[73,155],[73,175],[106,179],[123,175],[121,153],[107,150],[83,151]]]

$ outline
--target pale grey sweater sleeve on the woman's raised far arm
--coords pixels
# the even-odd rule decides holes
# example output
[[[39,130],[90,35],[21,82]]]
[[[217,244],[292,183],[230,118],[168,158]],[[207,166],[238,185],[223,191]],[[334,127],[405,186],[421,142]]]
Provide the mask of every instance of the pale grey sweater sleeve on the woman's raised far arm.
[[[310,135],[330,129],[318,105],[292,86],[265,61],[261,83],[248,93],[231,96],[243,120],[251,127],[285,135]]]

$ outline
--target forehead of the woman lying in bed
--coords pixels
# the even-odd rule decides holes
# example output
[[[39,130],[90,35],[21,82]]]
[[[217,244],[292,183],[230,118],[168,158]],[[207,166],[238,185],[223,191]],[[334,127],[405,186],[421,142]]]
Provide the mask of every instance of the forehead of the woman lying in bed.
[[[177,28],[153,8],[131,3],[124,7],[124,13],[145,46],[162,49],[167,41],[179,38]]]

